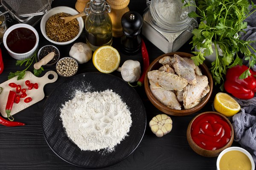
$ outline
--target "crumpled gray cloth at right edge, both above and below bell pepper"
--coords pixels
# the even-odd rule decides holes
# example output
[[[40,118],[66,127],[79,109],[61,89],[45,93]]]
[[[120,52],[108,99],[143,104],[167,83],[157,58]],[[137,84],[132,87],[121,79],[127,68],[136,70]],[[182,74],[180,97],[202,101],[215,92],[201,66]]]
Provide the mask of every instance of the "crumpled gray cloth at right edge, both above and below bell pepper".
[[[251,6],[250,6],[251,8]],[[255,9],[252,9],[255,10]],[[256,40],[256,12],[252,13],[244,21],[247,22],[247,28],[240,33],[241,40]],[[256,49],[256,42],[250,43]],[[253,54],[256,53],[250,50]],[[243,56],[240,56],[243,57]],[[249,66],[249,62],[244,60],[243,64]],[[256,71],[256,65],[252,68]],[[232,117],[235,141],[241,144],[253,156],[256,163],[256,96],[248,100],[236,99],[241,106],[241,111]]]

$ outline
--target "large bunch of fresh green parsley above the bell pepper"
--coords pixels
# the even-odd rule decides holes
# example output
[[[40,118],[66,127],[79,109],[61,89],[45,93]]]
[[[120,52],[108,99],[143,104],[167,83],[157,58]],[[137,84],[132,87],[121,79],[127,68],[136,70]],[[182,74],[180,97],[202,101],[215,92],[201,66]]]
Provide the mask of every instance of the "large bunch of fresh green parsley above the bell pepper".
[[[224,82],[228,68],[242,64],[239,53],[244,54],[246,60],[250,60],[250,67],[256,64],[256,56],[250,51],[251,49],[256,52],[250,45],[253,41],[239,40],[239,33],[247,28],[244,19],[256,11],[253,2],[250,10],[248,0],[197,0],[196,4],[194,0],[182,1],[185,1],[185,6],[195,6],[197,9],[196,12],[190,12],[189,17],[200,19],[198,28],[192,31],[193,48],[200,49],[193,52],[196,55],[192,57],[195,64],[202,64],[205,57],[213,53],[212,43],[216,47],[216,60],[210,68],[215,84]],[[222,55],[218,53],[217,44],[222,50]],[[249,75],[250,71],[247,70],[240,78],[244,79]],[[221,88],[223,89],[223,86]]]

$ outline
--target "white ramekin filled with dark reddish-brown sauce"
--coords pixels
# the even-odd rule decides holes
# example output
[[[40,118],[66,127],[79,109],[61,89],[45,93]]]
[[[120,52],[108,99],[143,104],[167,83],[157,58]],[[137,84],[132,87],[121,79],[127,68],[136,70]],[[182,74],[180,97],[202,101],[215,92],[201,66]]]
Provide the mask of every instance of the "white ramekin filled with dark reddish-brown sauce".
[[[34,27],[28,24],[15,24],[3,35],[3,45],[15,59],[32,57],[38,49],[39,36]]]

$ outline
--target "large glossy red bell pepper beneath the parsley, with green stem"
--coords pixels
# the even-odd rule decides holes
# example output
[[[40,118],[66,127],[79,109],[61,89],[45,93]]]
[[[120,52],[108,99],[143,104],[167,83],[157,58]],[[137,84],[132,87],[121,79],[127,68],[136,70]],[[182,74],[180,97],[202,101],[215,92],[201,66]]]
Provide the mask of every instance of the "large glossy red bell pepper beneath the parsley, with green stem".
[[[224,88],[228,93],[239,99],[251,99],[256,92],[255,71],[250,70],[250,76],[239,79],[239,76],[247,69],[249,68],[246,65],[236,65],[227,70]]]

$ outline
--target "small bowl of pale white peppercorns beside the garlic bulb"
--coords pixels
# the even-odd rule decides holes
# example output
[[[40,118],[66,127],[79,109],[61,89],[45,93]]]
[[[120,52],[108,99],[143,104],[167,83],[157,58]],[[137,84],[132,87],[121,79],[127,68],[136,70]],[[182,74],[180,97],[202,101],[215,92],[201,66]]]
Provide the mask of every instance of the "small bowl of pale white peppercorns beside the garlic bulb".
[[[78,71],[78,63],[71,57],[64,57],[58,60],[56,71],[62,77],[71,77]]]

